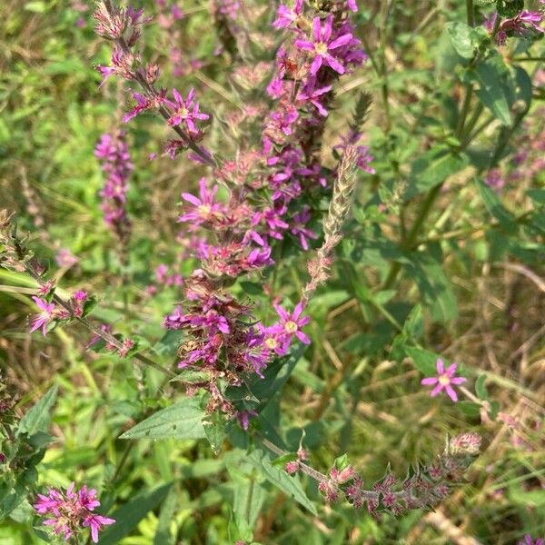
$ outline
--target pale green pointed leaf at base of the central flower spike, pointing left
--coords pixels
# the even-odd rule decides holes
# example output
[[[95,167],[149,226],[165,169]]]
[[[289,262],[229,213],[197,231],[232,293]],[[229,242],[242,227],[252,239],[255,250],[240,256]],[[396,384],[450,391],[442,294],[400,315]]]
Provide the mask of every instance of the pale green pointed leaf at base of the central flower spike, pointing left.
[[[199,400],[184,398],[125,431],[121,439],[201,439],[206,436],[205,414]]]

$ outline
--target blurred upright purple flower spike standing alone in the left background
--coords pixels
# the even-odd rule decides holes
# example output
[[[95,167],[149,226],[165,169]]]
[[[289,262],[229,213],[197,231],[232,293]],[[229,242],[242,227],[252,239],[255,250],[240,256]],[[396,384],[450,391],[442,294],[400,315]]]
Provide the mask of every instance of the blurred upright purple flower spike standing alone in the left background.
[[[104,222],[122,243],[130,236],[131,222],[126,211],[128,178],[134,170],[124,131],[103,134],[94,148],[94,155],[101,160],[106,175],[100,192],[103,199]]]

